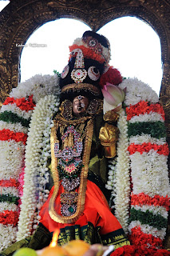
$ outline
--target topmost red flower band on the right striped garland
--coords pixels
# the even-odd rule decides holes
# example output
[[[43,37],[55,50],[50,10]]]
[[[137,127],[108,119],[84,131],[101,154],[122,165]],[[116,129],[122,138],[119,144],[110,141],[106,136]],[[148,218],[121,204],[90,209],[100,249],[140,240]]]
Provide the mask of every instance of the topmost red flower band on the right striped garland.
[[[141,101],[136,103],[133,106],[129,106],[126,108],[127,120],[130,120],[134,116],[139,116],[140,114],[149,114],[150,112],[159,113],[164,119],[164,110],[163,107],[159,104],[151,104],[148,105],[148,102]]]

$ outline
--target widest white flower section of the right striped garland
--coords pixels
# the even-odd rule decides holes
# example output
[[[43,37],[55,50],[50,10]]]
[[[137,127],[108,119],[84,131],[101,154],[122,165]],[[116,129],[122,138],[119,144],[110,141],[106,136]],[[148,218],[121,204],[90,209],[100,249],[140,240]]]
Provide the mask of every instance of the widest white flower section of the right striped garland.
[[[167,156],[150,150],[148,153],[136,152],[130,155],[134,194],[170,195],[168,182]]]

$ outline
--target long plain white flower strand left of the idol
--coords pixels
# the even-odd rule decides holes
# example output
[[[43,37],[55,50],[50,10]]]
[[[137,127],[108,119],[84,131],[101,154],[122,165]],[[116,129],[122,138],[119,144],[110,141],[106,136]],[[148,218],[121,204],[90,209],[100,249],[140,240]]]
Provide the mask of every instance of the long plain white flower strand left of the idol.
[[[48,182],[48,175],[46,172],[47,159],[50,157],[49,136],[50,136],[50,122],[53,114],[58,110],[59,102],[56,97],[49,95],[42,98],[32,115],[29,131],[29,139],[26,145],[26,169],[24,177],[24,189],[22,197],[21,214],[18,222],[18,234],[17,240],[26,238],[31,234],[32,224],[34,218],[38,219],[38,216],[34,215],[37,208],[37,200],[35,197],[37,190],[37,181],[35,177],[37,174],[42,173],[42,178],[38,179],[38,182],[42,185],[39,187],[40,192],[43,193],[43,187]],[[45,150],[42,147],[45,146]],[[39,167],[39,162],[41,166]],[[48,193],[48,192],[47,192]],[[39,197],[38,209],[41,208],[43,202]],[[36,228],[36,226],[34,226]]]

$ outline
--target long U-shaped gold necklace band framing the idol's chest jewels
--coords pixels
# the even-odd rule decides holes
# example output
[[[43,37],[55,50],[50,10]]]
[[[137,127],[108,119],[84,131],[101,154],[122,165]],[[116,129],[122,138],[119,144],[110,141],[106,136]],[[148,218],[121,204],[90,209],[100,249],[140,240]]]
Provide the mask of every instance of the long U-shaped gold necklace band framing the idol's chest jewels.
[[[55,199],[57,198],[60,182],[59,182],[59,174],[57,172],[57,158],[54,155],[54,143],[57,142],[56,136],[56,129],[58,128],[58,123],[56,123],[51,130],[51,156],[52,156],[52,174],[53,174],[53,182],[54,182],[54,190],[53,195],[49,201],[49,216],[55,222],[59,223],[73,223],[76,222],[79,216],[83,213],[85,207],[85,192],[86,192],[86,185],[87,185],[87,175],[89,170],[89,156],[90,156],[90,149],[92,144],[92,137],[93,137],[93,119],[90,119],[87,123],[87,130],[85,134],[85,143],[84,143],[84,153],[83,153],[83,167],[81,170],[81,182],[79,186],[79,193],[77,198],[77,209],[75,213],[71,216],[62,216],[57,214],[54,206],[55,206]]]

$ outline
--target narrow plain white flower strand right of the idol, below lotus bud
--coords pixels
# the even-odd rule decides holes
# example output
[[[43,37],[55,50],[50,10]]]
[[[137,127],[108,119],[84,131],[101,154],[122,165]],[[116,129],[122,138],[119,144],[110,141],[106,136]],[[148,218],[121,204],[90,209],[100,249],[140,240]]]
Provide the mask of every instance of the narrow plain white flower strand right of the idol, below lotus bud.
[[[125,110],[120,111],[117,127],[120,131],[117,142],[117,166],[115,184],[115,216],[121,223],[125,233],[128,232],[128,210],[130,203],[130,168],[128,157],[128,123],[126,121]]]

